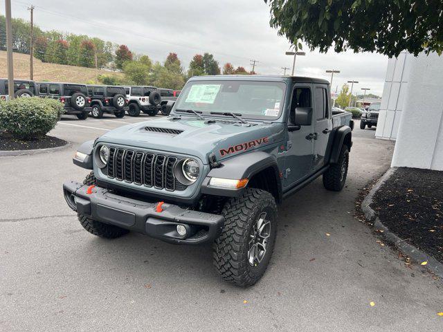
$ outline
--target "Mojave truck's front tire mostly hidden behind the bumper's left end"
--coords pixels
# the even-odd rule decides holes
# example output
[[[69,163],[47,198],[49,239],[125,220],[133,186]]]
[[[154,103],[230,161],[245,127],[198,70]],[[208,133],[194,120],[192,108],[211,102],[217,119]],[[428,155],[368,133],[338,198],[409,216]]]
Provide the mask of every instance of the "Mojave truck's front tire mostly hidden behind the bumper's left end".
[[[93,172],[89,173],[86,178],[84,178],[83,184],[97,185],[96,176],[94,176]],[[121,237],[129,232],[129,230],[125,230],[124,228],[89,219],[87,216],[80,213],[77,215],[78,221],[80,221],[83,228],[97,237],[102,237],[104,239],[116,239],[117,237]]]

